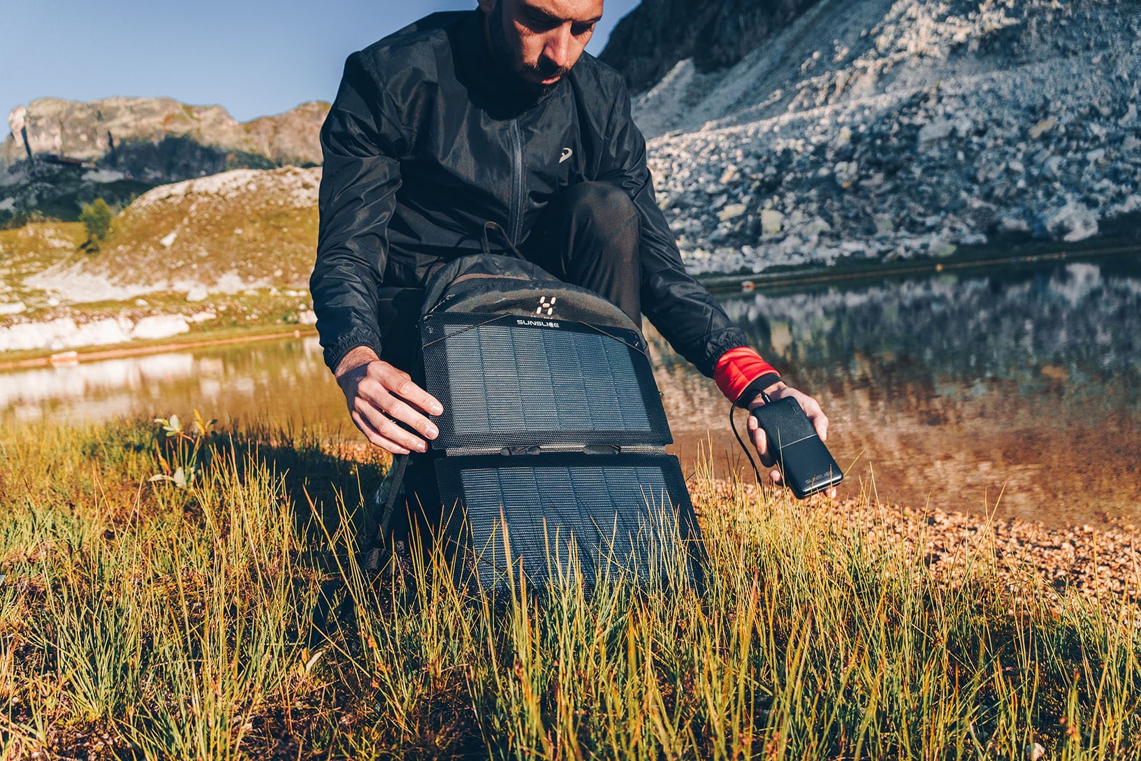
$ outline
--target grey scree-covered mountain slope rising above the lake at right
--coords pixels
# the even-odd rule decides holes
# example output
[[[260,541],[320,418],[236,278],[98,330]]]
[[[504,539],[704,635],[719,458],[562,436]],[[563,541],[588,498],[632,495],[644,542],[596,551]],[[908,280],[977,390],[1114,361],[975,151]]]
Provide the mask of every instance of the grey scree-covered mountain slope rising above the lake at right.
[[[1138,0],[822,0],[636,98],[693,272],[1082,241],[1141,212]]]

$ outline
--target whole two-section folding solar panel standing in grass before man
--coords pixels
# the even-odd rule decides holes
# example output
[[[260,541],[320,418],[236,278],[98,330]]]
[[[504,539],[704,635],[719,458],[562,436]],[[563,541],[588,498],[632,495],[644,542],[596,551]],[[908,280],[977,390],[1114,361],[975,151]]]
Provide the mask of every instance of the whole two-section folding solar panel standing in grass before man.
[[[458,574],[697,581],[701,533],[637,330],[446,309],[420,325]]]

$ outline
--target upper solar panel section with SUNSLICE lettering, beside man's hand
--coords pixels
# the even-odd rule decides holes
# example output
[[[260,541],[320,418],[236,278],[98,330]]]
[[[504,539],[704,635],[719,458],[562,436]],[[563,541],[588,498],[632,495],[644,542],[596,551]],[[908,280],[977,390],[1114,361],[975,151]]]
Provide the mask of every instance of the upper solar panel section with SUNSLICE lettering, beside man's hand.
[[[673,440],[634,331],[444,313],[424,317],[421,338],[428,391],[444,404],[435,448]]]

